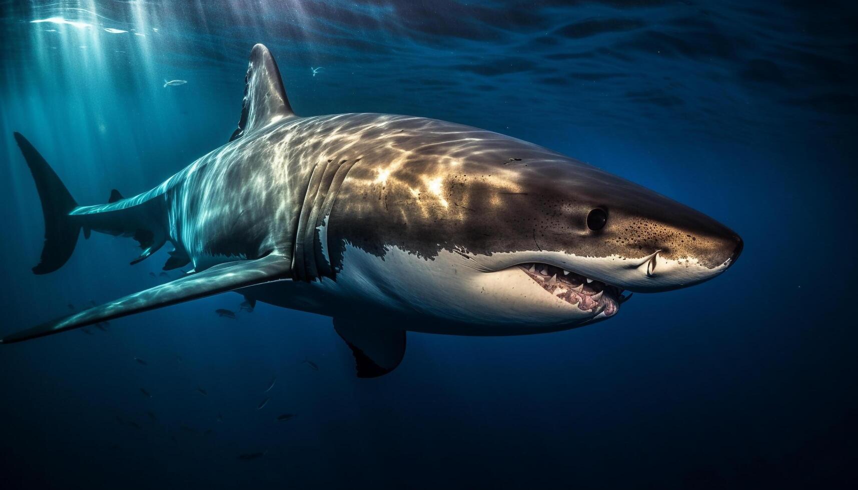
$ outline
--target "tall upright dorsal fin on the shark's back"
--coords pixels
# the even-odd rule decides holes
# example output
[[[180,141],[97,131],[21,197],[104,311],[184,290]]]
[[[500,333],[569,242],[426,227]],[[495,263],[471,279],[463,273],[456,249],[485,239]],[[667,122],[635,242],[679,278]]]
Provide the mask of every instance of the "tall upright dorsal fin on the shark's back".
[[[281,118],[294,116],[286,98],[286,90],[277,70],[277,62],[264,45],[251,50],[251,62],[245,76],[245,99],[241,107],[239,127],[229,141],[237,140]]]

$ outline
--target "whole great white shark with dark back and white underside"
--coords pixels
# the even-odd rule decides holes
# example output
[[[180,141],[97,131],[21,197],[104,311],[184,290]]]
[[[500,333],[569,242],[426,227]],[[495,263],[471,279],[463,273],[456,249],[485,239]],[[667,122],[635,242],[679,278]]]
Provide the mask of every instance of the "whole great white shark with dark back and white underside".
[[[390,372],[407,330],[566,330],[613,317],[625,292],[727,270],[740,237],[668,197],[547,148],[428,118],[292,110],[274,58],[251,51],[229,142],[135,197],[78,206],[15,133],[45,216],[35,274],[81,232],[169,242],[188,275],[3,337],[20,342],[227,291],[333,318],[358,375]]]

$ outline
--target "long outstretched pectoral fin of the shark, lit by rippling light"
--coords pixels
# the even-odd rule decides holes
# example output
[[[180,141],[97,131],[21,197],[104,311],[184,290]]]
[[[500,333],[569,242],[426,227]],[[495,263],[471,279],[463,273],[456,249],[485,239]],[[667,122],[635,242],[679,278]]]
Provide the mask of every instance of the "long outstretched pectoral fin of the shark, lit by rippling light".
[[[256,260],[221,263],[202,272],[186,275],[175,281],[130,294],[75,315],[5,336],[0,339],[0,343],[21,342],[35,337],[49,336],[65,330],[147,312],[162,306],[226,293],[233,289],[286,280],[289,278],[291,266],[291,259],[275,254]]]

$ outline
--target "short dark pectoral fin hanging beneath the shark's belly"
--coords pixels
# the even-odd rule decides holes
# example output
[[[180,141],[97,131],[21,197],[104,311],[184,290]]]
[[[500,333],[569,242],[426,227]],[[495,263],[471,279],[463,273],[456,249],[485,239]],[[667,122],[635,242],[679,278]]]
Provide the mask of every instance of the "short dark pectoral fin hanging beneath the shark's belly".
[[[358,378],[384,376],[405,356],[405,330],[352,318],[334,318],[334,330],[352,349]]]

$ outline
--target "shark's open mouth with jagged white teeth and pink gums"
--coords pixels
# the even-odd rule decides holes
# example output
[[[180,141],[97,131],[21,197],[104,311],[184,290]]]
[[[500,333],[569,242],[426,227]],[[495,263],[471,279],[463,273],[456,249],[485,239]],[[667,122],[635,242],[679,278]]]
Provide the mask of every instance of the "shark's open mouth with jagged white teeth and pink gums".
[[[518,268],[547,293],[577,305],[579,310],[592,312],[594,316],[612,317],[619,312],[619,305],[631,298],[631,293],[624,296],[619,287],[547,263],[522,263]]]

